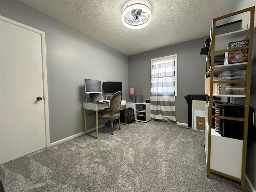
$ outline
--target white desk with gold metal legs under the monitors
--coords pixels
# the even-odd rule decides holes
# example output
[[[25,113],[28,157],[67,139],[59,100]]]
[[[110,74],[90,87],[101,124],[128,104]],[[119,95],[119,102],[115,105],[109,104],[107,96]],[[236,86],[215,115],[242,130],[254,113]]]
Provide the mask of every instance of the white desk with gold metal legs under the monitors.
[[[84,102],[84,128],[85,128],[85,134],[88,136],[91,136],[93,138],[98,139],[99,138],[99,132],[98,132],[98,111],[107,110],[110,108],[110,102],[107,103],[91,103],[91,102]],[[122,99],[121,106],[125,107],[125,125],[126,125],[126,100]],[[86,110],[95,111],[96,116],[96,137],[93,135],[90,135],[86,131]]]

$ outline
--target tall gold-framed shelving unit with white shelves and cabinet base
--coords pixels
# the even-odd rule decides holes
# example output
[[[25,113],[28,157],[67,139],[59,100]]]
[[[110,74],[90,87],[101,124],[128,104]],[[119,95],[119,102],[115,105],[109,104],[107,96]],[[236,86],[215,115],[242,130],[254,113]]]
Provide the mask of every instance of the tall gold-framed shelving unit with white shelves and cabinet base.
[[[241,183],[240,190],[244,191],[245,185],[245,170],[246,170],[246,150],[247,150],[247,135],[248,135],[248,114],[250,104],[250,81],[251,81],[251,65],[252,65],[252,44],[253,44],[253,26],[254,26],[254,10],[255,6],[240,10],[231,14],[227,14],[213,19],[212,24],[212,40],[210,42],[210,49],[207,56],[206,78],[210,76],[210,94],[206,96],[206,102],[209,100],[209,114],[208,122],[205,128],[205,150],[206,150],[206,165],[207,178],[210,178],[210,173],[220,174],[222,176],[231,178]],[[250,28],[237,30],[225,34],[215,36],[216,21],[229,18],[234,15],[250,12]],[[248,46],[225,49],[230,42],[248,39]],[[209,62],[210,58],[216,55],[224,54],[225,52],[248,49],[248,62],[216,65],[214,66],[214,59]],[[213,76],[217,76],[222,71],[240,70],[246,68],[246,80],[225,80],[213,81]],[[218,95],[213,93],[214,83],[246,83],[245,95]],[[245,118],[232,118],[226,116],[212,115],[213,97],[241,97],[244,98],[244,116]],[[218,132],[212,130],[212,118],[236,120],[244,122],[244,136],[243,140],[222,137]]]

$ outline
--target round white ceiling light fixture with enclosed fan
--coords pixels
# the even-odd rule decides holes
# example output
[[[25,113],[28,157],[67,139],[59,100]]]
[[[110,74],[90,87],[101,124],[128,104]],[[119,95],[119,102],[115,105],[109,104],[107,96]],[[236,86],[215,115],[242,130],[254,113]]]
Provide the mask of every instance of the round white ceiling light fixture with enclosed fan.
[[[131,29],[146,27],[151,21],[151,11],[144,4],[132,4],[124,9],[122,14],[123,24]]]

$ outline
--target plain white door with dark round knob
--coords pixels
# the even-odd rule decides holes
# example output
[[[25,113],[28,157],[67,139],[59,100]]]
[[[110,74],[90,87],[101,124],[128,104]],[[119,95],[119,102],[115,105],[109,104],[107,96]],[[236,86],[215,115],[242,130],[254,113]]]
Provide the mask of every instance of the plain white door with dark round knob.
[[[42,36],[33,28],[3,18],[0,21],[1,164],[46,147]]]

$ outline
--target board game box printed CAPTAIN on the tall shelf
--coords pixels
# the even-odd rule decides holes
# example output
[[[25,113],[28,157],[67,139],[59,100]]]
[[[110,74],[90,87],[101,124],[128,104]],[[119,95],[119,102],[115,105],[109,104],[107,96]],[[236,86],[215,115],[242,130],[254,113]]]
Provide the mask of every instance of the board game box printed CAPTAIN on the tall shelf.
[[[248,43],[249,43],[248,39],[242,40],[242,41],[230,42],[228,44],[228,49],[244,47],[244,46],[247,46]],[[228,52],[228,64],[247,62],[247,60],[248,60],[248,49],[241,49],[241,50]]]

